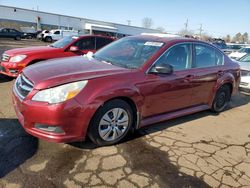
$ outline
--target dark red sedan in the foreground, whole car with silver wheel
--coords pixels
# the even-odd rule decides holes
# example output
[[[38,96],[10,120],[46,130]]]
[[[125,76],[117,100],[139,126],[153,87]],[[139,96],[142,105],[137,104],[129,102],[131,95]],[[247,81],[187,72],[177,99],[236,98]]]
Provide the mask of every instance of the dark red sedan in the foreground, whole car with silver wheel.
[[[239,65],[193,39],[133,36],[92,57],[26,68],[13,87],[24,129],[53,142],[121,141],[131,129],[202,110],[223,111],[238,90]]]

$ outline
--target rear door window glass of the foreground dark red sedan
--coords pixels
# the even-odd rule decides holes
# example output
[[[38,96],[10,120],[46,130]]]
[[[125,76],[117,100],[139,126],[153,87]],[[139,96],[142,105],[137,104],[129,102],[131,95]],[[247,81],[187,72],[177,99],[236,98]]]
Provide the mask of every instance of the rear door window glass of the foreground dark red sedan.
[[[224,64],[223,55],[210,46],[196,44],[194,55],[194,68],[213,67]]]

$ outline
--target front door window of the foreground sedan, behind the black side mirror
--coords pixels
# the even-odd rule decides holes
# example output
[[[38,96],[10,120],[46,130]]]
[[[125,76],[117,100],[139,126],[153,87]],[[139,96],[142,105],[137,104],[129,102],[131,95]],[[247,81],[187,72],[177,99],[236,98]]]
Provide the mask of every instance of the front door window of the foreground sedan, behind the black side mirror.
[[[174,71],[191,68],[191,44],[179,44],[167,50],[156,63],[170,64]]]

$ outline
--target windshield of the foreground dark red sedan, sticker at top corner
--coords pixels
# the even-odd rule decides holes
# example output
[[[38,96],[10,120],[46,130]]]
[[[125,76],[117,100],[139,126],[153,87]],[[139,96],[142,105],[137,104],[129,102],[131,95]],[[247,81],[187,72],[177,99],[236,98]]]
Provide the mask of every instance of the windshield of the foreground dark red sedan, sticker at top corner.
[[[137,69],[163,45],[163,42],[128,37],[102,48],[93,57],[120,67]]]

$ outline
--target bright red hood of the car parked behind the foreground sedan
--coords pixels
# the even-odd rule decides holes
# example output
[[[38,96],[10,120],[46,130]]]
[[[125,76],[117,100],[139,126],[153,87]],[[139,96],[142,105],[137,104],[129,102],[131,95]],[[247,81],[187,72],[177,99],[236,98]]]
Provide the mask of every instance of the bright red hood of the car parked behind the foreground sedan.
[[[36,47],[28,47],[28,48],[16,48],[12,50],[8,50],[5,53],[10,56],[15,55],[28,55],[34,53],[46,53],[46,52],[55,52],[58,50],[62,50],[61,48],[53,48],[50,46],[36,46]]]

